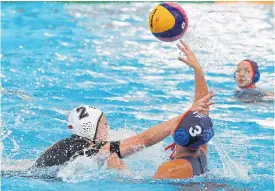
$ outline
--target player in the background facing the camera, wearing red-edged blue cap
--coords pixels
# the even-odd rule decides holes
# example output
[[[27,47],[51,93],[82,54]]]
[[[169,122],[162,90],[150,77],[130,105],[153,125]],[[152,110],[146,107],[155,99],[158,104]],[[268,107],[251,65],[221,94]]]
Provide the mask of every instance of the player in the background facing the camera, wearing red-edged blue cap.
[[[235,96],[241,101],[257,102],[265,99],[274,99],[274,93],[265,91],[256,86],[260,80],[258,64],[252,60],[241,61],[234,73],[237,86],[240,88]]]

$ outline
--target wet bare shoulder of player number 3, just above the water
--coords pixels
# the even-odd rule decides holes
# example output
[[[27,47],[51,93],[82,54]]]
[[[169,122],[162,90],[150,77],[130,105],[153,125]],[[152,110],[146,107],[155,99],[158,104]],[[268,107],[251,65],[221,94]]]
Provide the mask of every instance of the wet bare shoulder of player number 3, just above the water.
[[[164,162],[153,176],[154,179],[183,179],[192,177],[192,165],[185,159],[174,159]]]

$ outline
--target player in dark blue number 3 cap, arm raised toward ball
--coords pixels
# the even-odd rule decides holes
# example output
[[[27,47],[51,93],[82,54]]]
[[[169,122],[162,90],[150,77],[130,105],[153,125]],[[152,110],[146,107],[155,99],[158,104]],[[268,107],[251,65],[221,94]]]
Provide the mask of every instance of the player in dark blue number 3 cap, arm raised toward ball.
[[[184,52],[186,58],[179,59],[195,71],[195,102],[187,112],[177,118],[176,125],[171,127],[170,133],[175,143],[166,148],[173,150],[171,160],[158,168],[153,177],[155,179],[192,178],[204,174],[207,171],[207,142],[214,136],[211,118],[208,116],[211,105],[209,100],[213,94],[208,93],[203,71],[196,56],[186,44],[182,41],[181,43],[182,46],[178,45],[178,48]],[[200,99],[201,97],[203,98]],[[204,108],[196,108],[198,103],[203,103]],[[108,160],[108,166],[115,168],[116,164],[118,169],[124,165],[119,164],[115,157]]]

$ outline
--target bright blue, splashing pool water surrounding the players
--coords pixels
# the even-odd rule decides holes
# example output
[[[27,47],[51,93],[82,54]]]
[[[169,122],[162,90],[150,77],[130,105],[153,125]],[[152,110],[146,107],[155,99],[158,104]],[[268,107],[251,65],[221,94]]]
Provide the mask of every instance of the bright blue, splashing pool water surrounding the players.
[[[191,69],[177,61],[175,43],[158,41],[148,29],[155,5],[1,3],[2,169],[24,168],[68,137],[66,115],[81,104],[105,112],[110,139],[136,134],[190,107]],[[259,86],[274,91],[274,8],[181,5],[190,21],[184,40],[216,93],[208,177],[152,180],[170,154],[163,150],[172,142],[167,138],[126,158],[127,173],[97,170],[93,160],[81,159],[61,169],[57,179],[45,173],[3,176],[2,190],[273,190],[274,102],[235,100],[232,73],[240,60],[255,59]]]

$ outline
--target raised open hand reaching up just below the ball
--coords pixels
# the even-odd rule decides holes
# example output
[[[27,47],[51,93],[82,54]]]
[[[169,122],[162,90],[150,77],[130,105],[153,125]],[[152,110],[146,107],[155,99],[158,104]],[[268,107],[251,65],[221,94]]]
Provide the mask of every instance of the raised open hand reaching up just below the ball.
[[[200,68],[201,66],[194,52],[182,40],[180,40],[180,42],[181,42],[181,45],[177,44],[177,47],[185,54],[186,58],[179,57],[178,59],[193,69]]]

